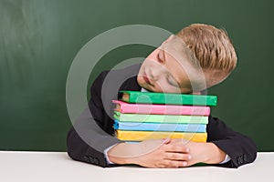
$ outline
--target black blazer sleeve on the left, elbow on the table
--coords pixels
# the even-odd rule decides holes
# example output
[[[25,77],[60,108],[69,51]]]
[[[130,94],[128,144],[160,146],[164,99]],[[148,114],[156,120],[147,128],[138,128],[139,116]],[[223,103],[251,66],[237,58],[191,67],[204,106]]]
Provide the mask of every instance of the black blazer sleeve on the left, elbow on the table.
[[[91,98],[87,107],[77,118],[68,131],[68,156],[74,160],[94,164],[100,167],[110,167],[104,157],[104,150],[121,140],[111,136],[102,128],[104,126],[104,110],[101,102],[101,86],[106,72],[102,72],[93,82]]]

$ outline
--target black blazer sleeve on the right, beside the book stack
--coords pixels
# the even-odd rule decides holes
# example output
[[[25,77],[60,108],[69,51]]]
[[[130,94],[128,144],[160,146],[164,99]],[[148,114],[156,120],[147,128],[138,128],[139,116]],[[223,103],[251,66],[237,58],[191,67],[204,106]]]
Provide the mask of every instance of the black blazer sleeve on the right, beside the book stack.
[[[231,160],[220,167],[240,167],[253,162],[257,157],[257,146],[248,137],[229,128],[222,120],[209,116],[207,142],[222,149]]]

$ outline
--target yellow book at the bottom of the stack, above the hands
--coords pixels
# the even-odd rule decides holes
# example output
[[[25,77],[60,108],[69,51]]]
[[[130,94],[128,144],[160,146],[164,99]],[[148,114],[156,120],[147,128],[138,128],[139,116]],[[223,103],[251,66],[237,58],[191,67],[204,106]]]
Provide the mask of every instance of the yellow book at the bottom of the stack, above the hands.
[[[184,132],[160,132],[160,131],[126,131],[116,130],[118,139],[124,141],[143,141],[148,139],[182,138],[193,142],[206,142],[207,133],[184,133]]]

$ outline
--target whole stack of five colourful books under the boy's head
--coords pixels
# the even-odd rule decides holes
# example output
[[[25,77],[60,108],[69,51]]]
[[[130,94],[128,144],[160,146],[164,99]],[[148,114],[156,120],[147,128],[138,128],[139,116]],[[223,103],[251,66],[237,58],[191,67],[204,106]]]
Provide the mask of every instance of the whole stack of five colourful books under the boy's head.
[[[113,100],[114,129],[123,141],[182,138],[206,142],[206,125],[216,96],[121,91]]]

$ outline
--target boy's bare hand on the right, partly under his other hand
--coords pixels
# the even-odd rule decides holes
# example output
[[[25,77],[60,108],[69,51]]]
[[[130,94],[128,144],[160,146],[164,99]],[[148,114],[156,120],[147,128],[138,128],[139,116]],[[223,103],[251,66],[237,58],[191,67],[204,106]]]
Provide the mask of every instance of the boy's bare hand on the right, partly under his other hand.
[[[224,161],[226,153],[216,147],[214,143],[201,143],[192,141],[182,141],[182,139],[171,139],[171,143],[183,142],[184,147],[188,148],[188,154],[191,158],[188,159],[185,167],[190,167],[196,163],[218,164]]]

